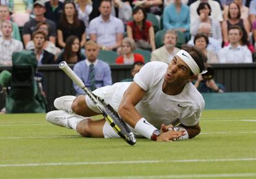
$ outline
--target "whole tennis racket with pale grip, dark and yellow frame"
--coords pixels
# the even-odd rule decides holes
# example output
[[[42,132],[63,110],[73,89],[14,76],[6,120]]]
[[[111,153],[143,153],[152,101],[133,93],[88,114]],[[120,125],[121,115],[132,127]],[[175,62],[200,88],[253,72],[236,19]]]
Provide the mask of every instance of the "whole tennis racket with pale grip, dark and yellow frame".
[[[92,91],[90,91],[85,86],[83,81],[74,73],[74,71],[70,69],[69,65],[67,65],[66,62],[62,61],[59,64],[59,68],[63,70],[77,86],[85,91],[85,94],[87,94],[90,99],[92,99],[96,107],[98,107],[101,114],[109,123],[109,125],[111,125],[114,131],[116,131],[116,133],[128,144],[134,145],[136,143],[134,133],[130,131],[130,128],[127,126],[127,124],[119,117],[119,114],[116,112],[116,110],[114,110],[114,108],[110,106],[104,99],[93,94]]]

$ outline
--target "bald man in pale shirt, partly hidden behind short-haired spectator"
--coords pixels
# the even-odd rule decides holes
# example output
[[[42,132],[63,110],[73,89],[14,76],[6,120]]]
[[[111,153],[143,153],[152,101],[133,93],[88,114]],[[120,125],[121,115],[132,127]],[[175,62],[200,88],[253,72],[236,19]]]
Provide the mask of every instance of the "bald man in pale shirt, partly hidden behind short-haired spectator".
[[[209,43],[207,45],[207,50],[213,51],[217,54],[221,49],[221,43],[215,38],[210,37],[210,31],[211,31],[211,25],[209,23],[206,23],[206,22],[200,23],[198,28],[198,33],[205,33],[205,35],[208,36]],[[194,38],[192,38],[188,42],[188,44],[194,46],[195,45]]]

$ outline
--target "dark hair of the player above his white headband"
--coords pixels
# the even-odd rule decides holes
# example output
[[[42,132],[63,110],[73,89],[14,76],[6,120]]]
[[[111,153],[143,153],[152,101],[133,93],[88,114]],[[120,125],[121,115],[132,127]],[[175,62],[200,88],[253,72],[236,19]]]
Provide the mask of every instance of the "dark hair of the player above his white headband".
[[[195,60],[197,63],[200,73],[205,70],[205,63],[207,62],[207,56],[203,54],[202,51],[200,51],[198,48],[188,45],[188,44],[182,44],[181,49],[184,51],[187,51],[190,56]]]

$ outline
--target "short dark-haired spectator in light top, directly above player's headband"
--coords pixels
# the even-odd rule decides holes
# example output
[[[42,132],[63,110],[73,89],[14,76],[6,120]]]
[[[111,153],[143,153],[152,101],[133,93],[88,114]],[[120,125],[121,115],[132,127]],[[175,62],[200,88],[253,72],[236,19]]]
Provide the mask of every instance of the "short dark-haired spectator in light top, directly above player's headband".
[[[217,54],[215,54],[215,52],[213,51],[207,50],[208,43],[209,43],[208,36],[205,35],[204,33],[198,33],[197,35],[195,35],[195,38],[194,38],[195,47],[200,49],[203,52],[203,54],[207,56],[208,64],[218,63]]]

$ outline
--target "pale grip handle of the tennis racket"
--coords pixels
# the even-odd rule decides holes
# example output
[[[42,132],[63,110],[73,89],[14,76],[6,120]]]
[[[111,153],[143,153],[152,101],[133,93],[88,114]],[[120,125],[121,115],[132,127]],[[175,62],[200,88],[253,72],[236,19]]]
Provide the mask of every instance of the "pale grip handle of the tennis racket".
[[[77,86],[82,89],[85,88],[85,84],[83,83],[83,81],[77,76],[77,74],[75,74],[72,69],[70,69],[69,65],[67,65],[65,61],[59,63],[59,68],[63,70]]]

